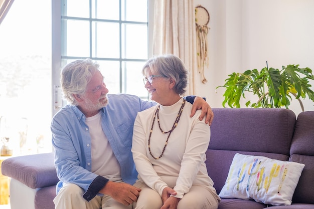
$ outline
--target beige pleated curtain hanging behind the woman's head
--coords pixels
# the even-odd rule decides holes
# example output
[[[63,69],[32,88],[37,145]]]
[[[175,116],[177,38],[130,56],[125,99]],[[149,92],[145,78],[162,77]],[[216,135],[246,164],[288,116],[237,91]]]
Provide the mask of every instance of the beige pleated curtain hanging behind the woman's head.
[[[186,95],[194,95],[197,72],[194,0],[155,0],[153,55],[174,54],[189,70]]]

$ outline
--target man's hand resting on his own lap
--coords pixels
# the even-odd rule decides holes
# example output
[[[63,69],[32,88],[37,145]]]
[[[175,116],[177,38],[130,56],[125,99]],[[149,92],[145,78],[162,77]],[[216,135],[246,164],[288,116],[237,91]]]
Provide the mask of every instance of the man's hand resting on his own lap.
[[[129,205],[137,201],[140,190],[140,188],[136,188],[127,183],[108,181],[99,192],[111,196],[124,205]]]

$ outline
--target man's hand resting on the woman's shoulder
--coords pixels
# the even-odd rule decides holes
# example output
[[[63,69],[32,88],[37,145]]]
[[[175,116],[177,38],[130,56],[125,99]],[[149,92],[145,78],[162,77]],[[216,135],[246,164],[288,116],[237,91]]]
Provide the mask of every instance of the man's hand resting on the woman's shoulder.
[[[196,110],[199,109],[202,110],[200,120],[203,120],[204,116],[206,115],[205,123],[211,125],[214,119],[214,113],[212,111],[212,108],[202,97],[196,96],[193,102],[190,116],[192,117],[195,114]]]

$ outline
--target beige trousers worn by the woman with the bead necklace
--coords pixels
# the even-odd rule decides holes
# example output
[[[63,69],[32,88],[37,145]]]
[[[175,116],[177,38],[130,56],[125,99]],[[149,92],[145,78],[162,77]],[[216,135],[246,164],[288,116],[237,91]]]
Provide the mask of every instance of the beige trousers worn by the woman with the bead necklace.
[[[148,187],[142,181],[136,181],[134,186],[141,188],[134,209],[160,209],[163,205],[158,192]],[[190,191],[179,201],[177,209],[217,209],[220,197],[210,186],[192,185]]]

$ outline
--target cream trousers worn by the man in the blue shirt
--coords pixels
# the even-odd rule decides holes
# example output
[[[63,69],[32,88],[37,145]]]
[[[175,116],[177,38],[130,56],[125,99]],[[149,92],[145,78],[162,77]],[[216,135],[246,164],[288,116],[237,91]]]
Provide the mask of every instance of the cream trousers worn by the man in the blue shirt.
[[[108,195],[96,195],[89,202],[83,198],[84,190],[76,184],[66,183],[54,198],[56,209],[131,209],[132,205],[124,205]]]

